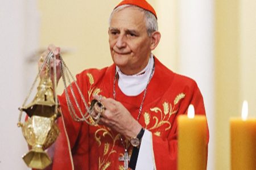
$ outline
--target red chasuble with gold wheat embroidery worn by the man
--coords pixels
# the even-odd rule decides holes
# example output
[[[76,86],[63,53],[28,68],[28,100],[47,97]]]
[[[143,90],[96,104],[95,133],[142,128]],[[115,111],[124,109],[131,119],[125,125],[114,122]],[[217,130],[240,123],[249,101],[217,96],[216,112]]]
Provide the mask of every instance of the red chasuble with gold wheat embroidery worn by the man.
[[[194,80],[168,70],[156,57],[154,60],[155,73],[148,85],[139,123],[152,132],[155,168],[177,169],[176,118],[187,113],[189,104],[195,106],[196,114],[205,115],[203,97]],[[76,76],[88,104],[93,94],[113,98],[114,75],[113,64],[101,70],[88,69]],[[117,84],[115,88],[116,100],[137,119],[144,92],[126,96]],[[70,91],[69,94],[72,96]],[[75,94],[78,94],[76,90]],[[78,100],[83,105],[82,100]],[[123,169],[123,162],[118,161],[124,154],[120,134],[105,126],[73,121],[65,94],[59,96],[59,102],[62,117],[58,119],[60,135],[54,147],[52,169]],[[84,106],[82,111],[85,112]],[[127,139],[125,143],[131,155],[133,147]]]

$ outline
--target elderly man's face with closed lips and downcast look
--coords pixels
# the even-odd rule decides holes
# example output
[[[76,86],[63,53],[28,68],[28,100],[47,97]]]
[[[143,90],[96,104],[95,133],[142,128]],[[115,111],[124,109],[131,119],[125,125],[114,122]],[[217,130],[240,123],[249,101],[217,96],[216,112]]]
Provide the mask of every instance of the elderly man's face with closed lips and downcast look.
[[[109,46],[122,73],[132,75],[143,70],[151,53],[144,13],[134,7],[115,12],[110,21]]]

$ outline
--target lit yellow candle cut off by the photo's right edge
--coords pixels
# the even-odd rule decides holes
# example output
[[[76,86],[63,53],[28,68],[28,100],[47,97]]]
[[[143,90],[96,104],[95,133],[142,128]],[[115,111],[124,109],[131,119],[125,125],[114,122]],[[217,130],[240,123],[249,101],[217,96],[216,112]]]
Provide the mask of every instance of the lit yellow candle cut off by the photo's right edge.
[[[232,170],[256,169],[256,118],[247,118],[247,114],[244,101],[242,118],[230,118]]]

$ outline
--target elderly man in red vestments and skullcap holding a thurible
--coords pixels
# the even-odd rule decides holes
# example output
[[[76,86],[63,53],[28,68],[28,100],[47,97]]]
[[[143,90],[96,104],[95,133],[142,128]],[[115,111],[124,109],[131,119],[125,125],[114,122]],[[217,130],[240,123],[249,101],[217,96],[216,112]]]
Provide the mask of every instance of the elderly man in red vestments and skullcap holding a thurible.
[[[197,114],[205,109],[195,81],[168,70],[151,53],[159,40],[156,12],[146,1],[125,0],[114,8],[113,65],[76,76],[86,102],[96,99],[105,109],[98,125],[89,126],[73,121],[65,94],[59,96],[61,133],[52,169],[177,169],[177,116],[189,104]],[[59,56],[60,48],[48,50]]]

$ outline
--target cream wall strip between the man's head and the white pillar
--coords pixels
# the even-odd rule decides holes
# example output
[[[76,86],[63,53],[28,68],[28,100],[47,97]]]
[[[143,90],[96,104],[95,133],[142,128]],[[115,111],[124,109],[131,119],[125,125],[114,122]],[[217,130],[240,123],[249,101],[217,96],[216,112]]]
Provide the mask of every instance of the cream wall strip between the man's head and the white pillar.
[[[177,71],[177,1],[156,1],[155,10],[158,15],[158,27],[161,39],[153,52],[165,66]]]

